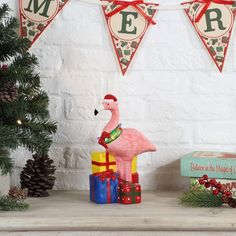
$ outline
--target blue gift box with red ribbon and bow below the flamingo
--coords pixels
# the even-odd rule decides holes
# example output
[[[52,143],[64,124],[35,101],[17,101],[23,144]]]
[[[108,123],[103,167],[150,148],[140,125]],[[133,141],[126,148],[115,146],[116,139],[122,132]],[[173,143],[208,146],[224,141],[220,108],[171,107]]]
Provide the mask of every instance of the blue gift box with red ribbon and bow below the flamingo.
[[[118,174],[102,172],[89,175],[90,200],[99,204],[117,203]]]

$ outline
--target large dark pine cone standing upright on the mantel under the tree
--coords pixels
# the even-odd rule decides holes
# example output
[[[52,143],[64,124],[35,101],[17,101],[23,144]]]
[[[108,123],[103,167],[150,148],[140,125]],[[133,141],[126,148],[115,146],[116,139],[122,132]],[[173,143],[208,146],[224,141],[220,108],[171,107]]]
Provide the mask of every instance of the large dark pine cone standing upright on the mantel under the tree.
[[[20,175],[21,187],[28,189],[29,197],[47,197],[47,190],[53,188],[56,167],[48,155],[33,155],[34,160],[28,160]]]

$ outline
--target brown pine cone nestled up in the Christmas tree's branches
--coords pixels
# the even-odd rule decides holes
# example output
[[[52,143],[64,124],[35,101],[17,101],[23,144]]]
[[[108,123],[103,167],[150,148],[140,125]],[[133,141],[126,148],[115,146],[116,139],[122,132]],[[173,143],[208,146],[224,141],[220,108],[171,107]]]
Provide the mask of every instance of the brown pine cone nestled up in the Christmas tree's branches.
[[[0,87],[0,102],[13,102],[17,97],[18,91],[13,81],[9,81]]]

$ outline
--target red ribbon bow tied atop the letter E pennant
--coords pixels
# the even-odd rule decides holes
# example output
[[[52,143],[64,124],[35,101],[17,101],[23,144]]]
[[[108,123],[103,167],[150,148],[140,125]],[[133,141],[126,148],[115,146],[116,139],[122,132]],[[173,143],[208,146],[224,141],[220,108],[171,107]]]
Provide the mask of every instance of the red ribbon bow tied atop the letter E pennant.
[[[135,0],[132,2],[128,2],[128,1],[119,1],[119,0],[115,0],[113,1],[113,3],[115,5],[120,5],[119,7],[117,7],[114,11],[111,11],[110,13],[106,14],[107,17],[111,17],[114,16],[116,13],[124,10],[125,8],[132,6],[133,8],[135,8],[149,23],[155,25],[156,22],[152,20],[151,17],[149,17],[144,11],[143,9],[141,9],[138,4],[142,4],[144,3],[143,0]]]

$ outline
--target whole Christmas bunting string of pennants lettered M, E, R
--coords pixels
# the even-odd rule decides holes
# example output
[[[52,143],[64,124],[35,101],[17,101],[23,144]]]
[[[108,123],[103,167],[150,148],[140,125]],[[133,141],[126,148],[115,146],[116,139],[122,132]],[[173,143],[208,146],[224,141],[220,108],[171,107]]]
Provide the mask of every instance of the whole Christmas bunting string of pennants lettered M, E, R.
[[[21,35],[33,44],[68,1],[19,0]],[[154,17],[160,6],[144,0],[94,1],[102,2],[116,57],[125,75],[149,26],[156,24]],[[236,0],[194,0],[182,5],[203,45],[222,72],[234,26]]]

